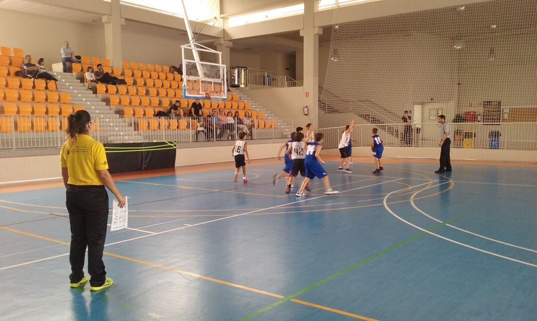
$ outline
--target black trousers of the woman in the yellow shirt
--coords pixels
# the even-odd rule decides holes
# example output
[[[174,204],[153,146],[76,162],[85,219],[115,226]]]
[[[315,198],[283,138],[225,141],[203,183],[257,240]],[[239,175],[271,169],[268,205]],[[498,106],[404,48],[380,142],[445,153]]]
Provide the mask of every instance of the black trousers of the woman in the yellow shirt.
[[[108,222],[108,193],[104,185],[69,185],[66,205],[71,225],[71,283],[84,277],[84,258],[88,247],[88,273],[91,286],[101,286],[106,279],[103,262]]]

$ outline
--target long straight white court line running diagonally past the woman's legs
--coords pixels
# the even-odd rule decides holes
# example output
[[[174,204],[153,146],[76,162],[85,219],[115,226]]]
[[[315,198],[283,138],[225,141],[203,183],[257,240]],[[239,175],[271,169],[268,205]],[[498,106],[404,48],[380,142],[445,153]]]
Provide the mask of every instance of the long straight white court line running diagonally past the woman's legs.
[[[368,188],[368,187],[371,187],[371,186],[376,186],[376,185],[386,184],[386,183],[395,182],[395,181],[398,181],[398,180],[391,180],[391,181],[380,182],[380,183],[371,184],[371,185],[367,185],[367,186],[360,186],[360,187],[358,187],[358,188],[353,188],[353,189],[350,189],[350,190],[342,191],[342,192],[340,192],[340,193],[345,193],[345,192],[355,191],[355,190],[364,189],[364,188]],[[425,184],[427,184],[427,183],[425,183]],[[304,202],[304,201],[314,200],[314,199],[318,199],[318,198],[323,198],[323,197],[326,197],[326,196],[330,196],[330,195],[322,195],[322,196],[317,196],[317,197],[313,197],[313,198],[301,199],[301,200],[293,201],[293,202],[291,202],[291,203],[280,204],[280,205],[276,205],[276,206],[271,206],[271,207],[267,207],[267,208],[262,208],[262,209],[260,209],[260,210],[256,210],[256,211],[245,212],[245,213],[241,213],[241,214],[231,215],[231,216],[229,216],[229,217],[223,217],[223,218],[219,218],[219,219],[215,219],[215,220],[210,220],[210,221],[205,221],[205,222],[201,222],[201,223],[197,223],[197,224],[193,224],[193,225],[188,225],[188,226],[183,226],[183,227],[173,228],[173,229],[165,230],[165,231],[158,232],[158,233],[155,233],[155,234],[148,234],[148,235],[142,235],[142,236],[138,236],[138,237],[128,238],[127,240],[123,240],[123,241],[118,241],[118,242],[113,242],[113,243],[105,244],[104,246],[107,247],[107,246],[109,246],[109,245],[120,244],[120,243],[130,242],[130,241],[134,241],[134,240],[140,240],[141,238],[145,238],[145,237],[149,237],[149,236],[159,235],[159,234],[168,233],[168,232],[173,232],[173,231],[180,230],[180,229],[185,229],[185,228],[189,228],[189,227],[194,227],[194,226],[204,225],[204,224],[207,224],[207,223],[212,223],[212,222],[217,222],[217,221],[227,220],[227,219],[231,219],[231,218],[236,218],[236,217],[240,217],[240,216],[242,216],[242,215],[246,215],[246,214],[252,214],[252,213],[256,213],[256,212],[262,212],[262,211],[266,211],[266,210],[272,210],[273,208],[278,208],[278,207],[281,207],[281,206],[287,206],[287,205],[296,204],[296,203],[302,203],[302,202]],[[42,258],[42,259],[39,259],[39,260],[33,260],[33,261],[30,261],[30,262],[19,263],[19,264],[16,264],[16,265],[5,266],[5,267],[0,268],[0,271],[2,271],[2,270],[8,270],[9,268],[18,267],[18,266],[23,266],[23,265],[27,265],[27,264],[32,264],[32,263],[42,262],[42,261],[45,261],[45,260],[48,260],[48,259],[54,259],[54,258],[57,258],[57,257],[62,257],[62,256],[67,256],[67,255],[69,255],[69,253],[65,253],[65,254],[62,254],[62,255],[56,255],[56,256],[52,256],[52,257],[46,257],[46,258]]]

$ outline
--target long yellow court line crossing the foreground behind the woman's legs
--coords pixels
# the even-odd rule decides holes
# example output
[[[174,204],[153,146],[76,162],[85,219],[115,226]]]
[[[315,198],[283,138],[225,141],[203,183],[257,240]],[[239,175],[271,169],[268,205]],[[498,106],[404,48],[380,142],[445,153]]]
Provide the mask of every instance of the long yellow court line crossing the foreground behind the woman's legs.
[[[63,241],[60,241],[60,240],[55,240],[54,238],[49,238],[49,237],[46,237],[46,236],[41,236],[41,235],[37,235],[37,234],[23,232],[21,230],[17,230],[17,229],[5,227],[5,226],[0,226],[0,228],[5,229],[5,230],[9,230],[9,231],[11,231],[13,233],[18,233],[18,234],[23,234],[23,235],[27,235],[27,236],[40,238],[41,240],[46,240],[46,241],[50,241],[50,242],[70,245],[70,243],[68,243],[68,242],[63,242]],[[275,293],[271,293],[271,292],[268,292],[268,291],[243,286],[243,285],[240,285],[240,284],[237,284],[237,283],[231,283],[231,282],[227,282],[227,281],[223,281],[223,280],[219,280],[219,279],[214,279],[214,278],[211,278],[211,277],[206,277],[205,275],[201,275],[201,274],[193,273],[193,272],[188,272],[188,271],[184,271],[184,270],[179,270],[178,268],[174,268],[174,267],[169,267],[169,266],[165,266],[165,265],[161,265],[161,264],[142,261],[142,260],[139,260],[139,259],[130,258],[130,257],[122,256],[122,255],[117,255],[117,254],[110,253],[110,252],[103,252],[103,254],[107,255],[107,256],[119,258],[119,259],[124,259],[124,260],[130,261],[130,262],[135,262],[135,263],[139,263],[139,264],[143,264],[143,265],[147,265],[147,266],[160,268],[160,269],[166,270],[166,271],[172,271],[172,272],[176,272],[176,273],[180,273],[180,274],[184,274],[184,275],[190,275],[191,277],[204,279],[204,280],[211,281],[211,282],[221,283],[223,285],[232,286],[232,287],[247,290],[247,291],[250,291],[250,292],[264,294],[264,295],[268,295],[268,296],[272,296],[272,297],[276,297],[276,298],[284,298],[285,297],[285,296],[280,295],[280,294],[275,294]],[[332,309],[332,308],[329,308],[329,307],[324,307],[323,305],[318,305],[318,304],[315,304],[315,303],[310,303],[310,302],[306,302],[306,301],[302,301],[302,300],[291,300],[291,301],[293,301],[295,303],[303,304],[303,305],[308,305],[309,307],[314,307],[314,308],[318,308],[318,309],[322,309],[322,310],[326,310],[326,311],[330,311],[330,312],[334,312],[334,313],[339,313],[341,315],[354,317],[354,318],[358,318],[358,319],[362,319],[362,320],[374,320],[374,319],[370,319],[370,318],[367,318],[367,317],[364,317],[364,316],[356,315],[354,313],[350,313],[350,312],[346,312],[346,311],[342,311],[342,310],[337,310],[337,309]]]

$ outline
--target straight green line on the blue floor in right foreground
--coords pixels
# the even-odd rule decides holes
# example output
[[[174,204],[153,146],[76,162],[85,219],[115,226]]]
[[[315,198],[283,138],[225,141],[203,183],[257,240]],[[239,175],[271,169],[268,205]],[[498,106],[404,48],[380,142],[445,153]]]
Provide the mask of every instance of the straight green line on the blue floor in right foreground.
[[[463,216],[465,216],[465,215],[466,215],[466,214],[458,215],[458,216],[456,216],[456,217],[454,217],[454,218],[452,218],[452,219],[449,219],[449,220],[447,220],[447,221],[445,221],[445,222],[443,222],[443,223],[440,223],[439,225],[436,225],[436,226],[432,227],[431,229],[428,229],[427,231],[432,232],[433,230],[435,230],[435,229],[437,229],[437,228],[439,228],[439,227],[442,227],[442,226],[444,226],[444,225],[446,225],[446,224],[448,224],[448,223],[451,223],[451,222],[453,222],[454,220],[459,219],[459,218],[461,218],[461,217],[463,217]],[[353,264],[353,265],[351,265],[351,266],[345,268],[344,270],[341,270],[341,271],[339,271],[339,272],[336,272],[336,273],[330,275],[328,278],[325,278],[325,279],[323,279],[323,280],[321,280],[321,281],[317,281],[317,282],[313,283],[312,285],[310,285],[310,286],[308,286],[308,287],[305,287],[305,288],[299,290],[298,292],[295,292],[295,293],[293,293],[293,294],[291,294],[291,295],[288,295],[288,296],[286,296],[286,297],[284,297],[284,298],[281,298],[280,300],[278,300],[278,301],[276,301],[276,302],[274,302],[274,303],[272,303],[272,304],[270,304],[270,305],[267,305],[266,307],[264,307],[264,308],[262,308],[262,309],[259,309],[259,310],[257,310],[256,312],[253,312],[253,313],[251,313],[251,314],[248,315],[248,316],[245,316],[244,318],[240,319],[239,321],[249,320],[249,319],[251,319],[251,318],[253,318],[253,317],[256,317],[256,316],[260,315],[260,314],[263,313],[263,312],[266,312],[266,311],[269,311],[270,309],[273,309],[273,308],[275,308],[275,307],[278,307],[278,305],[280,305],[280,304],[282,304],[282,303],[285,303],[285,302],[287,302],[287,301],[291,301],[291,300],[293,300],[293,298],[295,298],[295,297],[297,297],[297,296],[299,296],[299,295],[301,295],[301,294],[304,294],[304,293],[308,292],[309,290],[312,290],[312,289],[314,289],[314,288],[316,288],[316,287],[322,285],[323,283],[326,283],[326,282],[328,282],[328,281],[330,281],[330,280],[332,280],[332,279],[335,279],[335,278],[339,277],[339,275],[345,274],[345,273],[347,273],[347,272],[353,270],[354,268],[357,268],[357,267],[360,266],[360,265],[364,265],[365,263],[367,263],[367,262],[369,262],[369,261],[371,261],[371,260],[373,260],[373,259],[375,259],[375,258],[378,258],[379,256],[381,256],[381,255],[383,255],[383,254],[385,254],[385,253],[388,253],[389,251],[395,250],[396,248],[400,247],[401,245],[404,245],[404,244],[407,244],[407,243],[410,242],[410,241],[416,240],[416,238],[418,238],[418,237],[420,237],[420,236],[423,236],[423,235],[425,235],[425,234],[427,234],[427,233],[426,233],[426,232],[422,232],[422,233],[416,234],[416,235],[414,235],[414,236],[408,238],[407,240],[404,240],[404,241],[402,241],[402,242],[400,242],[400,243],[397,243],[397,244],[395,244],[395,245],[393,245],[393,246],[387,248],[386,250],[383,250],[383,251],[381,251],[381,252],[376,253],[376,254],[373,255],[373,256],[370,256],[370,257],[368,257],[368,258],[366,258],[366,259],[364,259],[364,260],[361,260],[360,262],[355,263],[355,264]]]

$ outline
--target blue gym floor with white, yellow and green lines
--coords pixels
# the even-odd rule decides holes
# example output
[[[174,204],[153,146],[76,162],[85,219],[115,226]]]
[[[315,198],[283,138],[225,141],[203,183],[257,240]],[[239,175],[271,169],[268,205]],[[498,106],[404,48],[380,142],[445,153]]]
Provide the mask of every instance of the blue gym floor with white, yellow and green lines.
[[[327,162],[304,198],[252,165],[117,182],[114,285],[70,289],[64,189],[0,194],[2,320],[535,320],[537,168]],[[301,179],[295,183],[298,185]],[[295,190],[295,189],[293,189]]]

